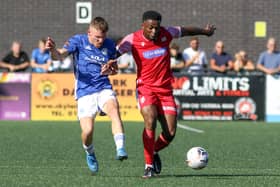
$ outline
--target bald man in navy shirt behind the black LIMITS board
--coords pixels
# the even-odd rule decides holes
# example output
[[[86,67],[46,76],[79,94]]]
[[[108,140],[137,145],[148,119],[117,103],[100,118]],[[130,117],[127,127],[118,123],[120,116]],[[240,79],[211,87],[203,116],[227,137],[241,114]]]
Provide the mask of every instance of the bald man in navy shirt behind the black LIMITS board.
[[[210,59],[210,69],[219,74],[233,70],[232,57],[224,51],[223,41],[217,41],[215,44],[215,52]]]

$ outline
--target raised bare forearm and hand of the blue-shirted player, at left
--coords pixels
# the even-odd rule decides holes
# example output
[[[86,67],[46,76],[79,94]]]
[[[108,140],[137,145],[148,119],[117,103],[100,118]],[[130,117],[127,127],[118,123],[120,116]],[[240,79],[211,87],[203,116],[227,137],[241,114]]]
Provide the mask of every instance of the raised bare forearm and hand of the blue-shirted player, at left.
[[[66,56],[68,56],[68,51],[67,49],[57,49],[55,42],[53,41],[52,38],[48,37],[47,42],[46,42],[46,48],[50,50],[51,52],[51,57],[53,60],[62,60]]]

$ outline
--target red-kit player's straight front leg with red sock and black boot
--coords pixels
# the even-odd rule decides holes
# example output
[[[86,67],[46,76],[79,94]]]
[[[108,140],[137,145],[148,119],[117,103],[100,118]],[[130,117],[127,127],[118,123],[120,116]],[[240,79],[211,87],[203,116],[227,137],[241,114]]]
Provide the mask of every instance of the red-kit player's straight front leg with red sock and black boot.
[[[145,171],[143,178],[150,178],[154,175],[153,171],[153,157],[155,146],[155,129],[157,123],[157,107],[155,105],[148,105],[141,109],[141,114],[144,118],[143,130],[143,145],[145,157]]]

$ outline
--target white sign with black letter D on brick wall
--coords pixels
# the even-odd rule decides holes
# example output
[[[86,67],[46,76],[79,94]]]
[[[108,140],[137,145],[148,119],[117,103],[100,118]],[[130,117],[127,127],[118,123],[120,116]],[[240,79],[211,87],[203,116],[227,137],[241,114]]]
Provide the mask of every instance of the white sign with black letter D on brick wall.
[[[76,23],[90,23],[92,19],[91,2],[76,3]]]

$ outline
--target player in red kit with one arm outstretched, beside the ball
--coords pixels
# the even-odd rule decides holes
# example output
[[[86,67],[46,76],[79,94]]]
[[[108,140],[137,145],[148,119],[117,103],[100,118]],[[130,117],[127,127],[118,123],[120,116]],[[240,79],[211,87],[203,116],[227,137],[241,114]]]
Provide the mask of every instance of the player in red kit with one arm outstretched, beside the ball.
[[[119,55],[132,52],[137,65],[138,103],[144,118],[143,144],[145,170],[143,178],[161,172],[158,152],[173,140],[177,127],[177,110],[172,94],[172,71],[169,44],[173,38],[214,34],[215,27],[162,27],[161,15],[156,11],[143,14],[141,29],[127,35],[117,46]],[[102,72],[108,72],[110,65]],[[112,67],[112,69],[114,69]],[[162,132],[155,140],[157,120]]]

